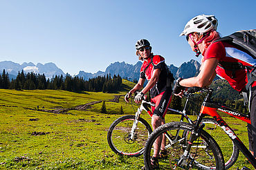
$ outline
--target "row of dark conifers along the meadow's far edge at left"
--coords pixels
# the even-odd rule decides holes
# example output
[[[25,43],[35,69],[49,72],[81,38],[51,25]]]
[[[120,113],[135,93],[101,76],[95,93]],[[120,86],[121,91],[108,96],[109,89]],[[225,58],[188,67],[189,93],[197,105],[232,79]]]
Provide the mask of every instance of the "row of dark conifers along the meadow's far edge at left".
[[[8,73],[3,69],[0,75],[0,88],[15,89],[15,90],[64,90],[64,91],[95,91],[103,93],[113,93],[120,90],[122,77],[119,75],[98,76],[85,81],[82,77],[71,77],[71,75],[55,75],[51,79],[46,79],[46,76],[36,73],[19,72],[16,79],[10,81]]]

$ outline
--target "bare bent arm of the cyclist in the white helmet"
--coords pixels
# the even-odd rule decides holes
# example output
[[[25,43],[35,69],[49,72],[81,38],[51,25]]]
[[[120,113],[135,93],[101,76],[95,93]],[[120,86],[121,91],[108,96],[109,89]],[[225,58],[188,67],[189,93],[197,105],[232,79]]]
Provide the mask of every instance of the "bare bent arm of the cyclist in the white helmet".
[[[181,82],[179,82],[179,84],[185,87],[209,86],[216,75],[215,69],[217,67],[218,62],[219,60],[216,58],[206,59],[201,66],[199,75],[197,75],[196,77],[188,78],[188,79],[182,79]]]

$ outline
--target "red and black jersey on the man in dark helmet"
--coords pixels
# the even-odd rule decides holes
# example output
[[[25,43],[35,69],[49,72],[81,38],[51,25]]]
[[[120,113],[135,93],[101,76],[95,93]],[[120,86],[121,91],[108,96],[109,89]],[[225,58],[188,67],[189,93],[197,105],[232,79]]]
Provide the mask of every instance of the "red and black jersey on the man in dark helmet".
[[[150,89],[151,97],[159,95],[166,89],[167,66],[165,59],[160,55],[151,55],[148,59],[144,59],[143,65],[140,68],[140,78],[147,79],[148,81],[152,78],[153,71],[158,68],[161,69],[161,73],[158,82]]]

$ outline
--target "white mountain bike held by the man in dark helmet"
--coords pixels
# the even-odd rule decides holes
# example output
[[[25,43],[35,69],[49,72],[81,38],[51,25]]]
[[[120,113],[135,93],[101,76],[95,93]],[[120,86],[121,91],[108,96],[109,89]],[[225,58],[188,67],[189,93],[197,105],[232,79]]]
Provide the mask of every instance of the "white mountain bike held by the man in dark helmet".
[[[190,101],[190,95],[191,94],[189,93],[187,96],[183,111],[177,111],[172,108],[167,108],[167,110],[172,111],[172,113],[181,115],[180,122],[183,122],[185,119],[188,121],[189,124],[193,124],[193,121],[190,120],[190,118],[186,114],[188,102]],[[142,111],[147,111],[147,113],[152,117],[153,114],[152,111],[150,111],[149,106],[154,106],[154,103],[143,100],[135,115],[125,115],[119,117],[111,124],[107,134],[107,140],[109,143],[109,147],[114,153],[127,156],[140,156],[143,154],[145,143],[149,135],[152,133],[152,128],[146,120],[140,117],[140,114],[142,113]],[[203,119],[203,123],[205,124],[205,126],[207,126],[207,129],[209,129],[208,131],[210,134],[216,134],[216,136],[218,136],[220,133],[222,133],[221,131],[223,131],[217,124],[217,122],[211,118]],[[226,143],[229,148],[233,148],[232,151],[229,151],[229,153],[227,153],[225,159],[226,169],[228,169],[237,160],[239,150],[237,149],[237,147],[235,147],[235,145],[232,144],[231,140],[227,141]],[[198,146],[192,147],[196,148]],[[203,146],[202,144],[200,147],[201,149],[207,148],[206,145]]]

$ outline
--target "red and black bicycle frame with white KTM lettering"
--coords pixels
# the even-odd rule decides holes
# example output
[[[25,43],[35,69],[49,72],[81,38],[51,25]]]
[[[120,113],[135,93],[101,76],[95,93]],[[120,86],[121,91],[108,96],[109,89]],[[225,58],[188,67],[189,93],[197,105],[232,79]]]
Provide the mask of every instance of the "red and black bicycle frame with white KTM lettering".
[[[232,108],[228,108],[226,106],[220,106],[218,104],[214,104],[214,103],[210,102],[210,97],[212,95],[212,89],[203,88],[202,90],[205,91],[206,93],[208,93],[208,95],[206,95],[205,100],[201,106],[201,111],[199,113],[199,116],[197,117],[196,124],[195,124],[195,131],[196,131],[196,129],[199,129],[199,127],[201,126],[201,121],[202,121],[203,117],[205,115],[210,115],[211,117],[214,118],[214,120],[217,121],[217,123],[219,124],[219,126],[221,126],[223,131],[225,131],[225,133],[237,145],[239,150],[246,156],[248,161],[256,169],[256,160],[255,160],[255,158],[253,158],[253,155],[246,148],[244,143],[241,142],[241,140],[237,137],[235,132],[232,131],[230,126],[228,126],[228,124],[226,124],[226,122],[221,118],[221,116],[219,115],[219,113],[217,113],[217,111],[227,113],[228,115],[231,115],[232,117],[236,117],[237,119],[247,122],[248,124],[250,124],[250,117],[248,117],[247,115],[244,115],[243,113],[239,113]]]

